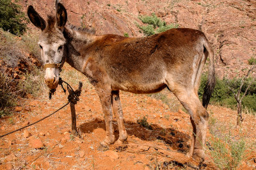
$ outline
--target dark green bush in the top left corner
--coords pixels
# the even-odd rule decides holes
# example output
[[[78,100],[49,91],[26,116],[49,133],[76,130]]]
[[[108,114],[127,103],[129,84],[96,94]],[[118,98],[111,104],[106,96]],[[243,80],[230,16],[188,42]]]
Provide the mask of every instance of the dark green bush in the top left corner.
[[[13,35],[23,35],[26,32],[28,18],[21,7],[11,0],[0,0],[0,27]]]

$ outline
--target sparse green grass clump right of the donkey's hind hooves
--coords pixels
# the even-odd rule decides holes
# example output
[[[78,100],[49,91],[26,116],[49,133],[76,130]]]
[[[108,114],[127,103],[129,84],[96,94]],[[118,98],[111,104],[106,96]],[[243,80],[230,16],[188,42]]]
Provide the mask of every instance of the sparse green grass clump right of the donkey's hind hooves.
[[[246,158],[246,142],[240,133],[238,137],[232,134],[231,127],[228,134],[227,128],[223,127],[216,119],[209,120],[211,137],[209,138],[208,150],[217,167],[220,169],[237,169],[242,160]],[[221,127],[222,126],[222,127]]]

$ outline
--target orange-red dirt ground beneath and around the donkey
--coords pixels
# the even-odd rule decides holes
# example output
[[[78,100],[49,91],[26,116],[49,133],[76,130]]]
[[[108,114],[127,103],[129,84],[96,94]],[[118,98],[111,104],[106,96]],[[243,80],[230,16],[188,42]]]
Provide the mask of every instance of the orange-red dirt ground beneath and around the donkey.
[[[65,69],[72,70],[65,65]],[[70,108],[65,107],[50,118],[25,130],[0,139],[0,169],[184,169],[191,139],[189,115],[179,106],[171,112],[161,100],[148,95],[120,93],[125,127],[129,135],[127,144],[113,144],[107,151],[98,150],[106,134],[99,97],[95,89],[83,78],[83,92],[76,105],[77,127],[80,136],[72,136]],[[77,88],[77,86],[73,86]],[[167,93],[167,91],[164,91]],[[52,100],[47,97],[28,98],[20,102],[22,111],[0,120],[0,134],[33,123],[61,105],[67,95],[57,88]],[[208,111],[221,125],[236,124],[236,111],[209,105]],[[143,117],[152,130],[141,127]],[[115,134],[118,128],[115,121]],[[234,127],[234,126],[232,126]],[[255,116],[244,115],[242,131],[246,141],[255,143]],[[239,128],[232,128],[236,134]],[[209,137],[210,134],[207,136]],[[40,139],[44,146],[35,149],[31,143]],[[256,154],[250,153],[240,169],[256,167]],[[253,162],[254,161],[254,162]],[[207,153],[202,169],[217,169]]]

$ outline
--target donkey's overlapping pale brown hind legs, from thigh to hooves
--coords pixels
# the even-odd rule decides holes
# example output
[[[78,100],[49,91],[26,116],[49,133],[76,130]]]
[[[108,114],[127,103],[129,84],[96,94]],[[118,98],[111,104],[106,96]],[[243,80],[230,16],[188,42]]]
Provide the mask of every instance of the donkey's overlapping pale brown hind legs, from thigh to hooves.
[[[191,116],[193,134],[188,155],[192,156],[198,162],[204,162],[205,155],[203,147],[205,144],[209,114],[201,104],[193,88],[179,86],[179,88],[172,89],[172,91]]]

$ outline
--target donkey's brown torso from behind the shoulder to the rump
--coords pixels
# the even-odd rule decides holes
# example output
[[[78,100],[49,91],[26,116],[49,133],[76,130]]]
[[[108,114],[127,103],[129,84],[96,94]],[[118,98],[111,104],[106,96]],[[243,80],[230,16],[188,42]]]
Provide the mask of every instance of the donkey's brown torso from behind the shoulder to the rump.
[[[204,33],[195,29],[170,29],[145,38],[105,35],[99,58],[113,90],[154,93],[166,81],[198,84],[193,73],[207,58],[205,42]]]

